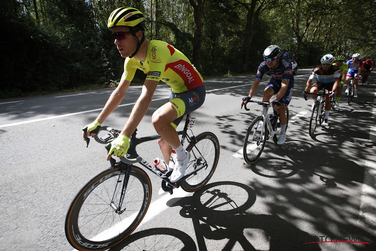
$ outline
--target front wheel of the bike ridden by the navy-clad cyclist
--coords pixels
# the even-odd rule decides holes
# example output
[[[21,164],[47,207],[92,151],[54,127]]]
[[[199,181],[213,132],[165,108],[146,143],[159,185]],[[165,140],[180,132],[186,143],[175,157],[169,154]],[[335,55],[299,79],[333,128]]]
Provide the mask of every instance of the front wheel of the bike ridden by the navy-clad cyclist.
[[[268,137],[268,128],[266,123],[263,121],[264,118],[262,116],[258,116],[252,121],[251,125],[247,129],[247,134],[243,143],[243,157],[248,164],[255,163],[260,158],[261,153],[264,150],[266,138]],[[261,135],[262,127],[258,126],[260,122],[263,122],[263,135]]]

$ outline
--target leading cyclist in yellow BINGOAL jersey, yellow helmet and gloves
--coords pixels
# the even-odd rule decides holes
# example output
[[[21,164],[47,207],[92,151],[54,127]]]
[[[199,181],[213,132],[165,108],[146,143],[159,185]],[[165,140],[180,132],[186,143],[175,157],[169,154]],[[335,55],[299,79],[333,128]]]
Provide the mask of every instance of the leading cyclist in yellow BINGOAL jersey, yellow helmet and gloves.
[[[95,136],[96,130],[124,98],[136,70],[142,70],[147,76],[141,94],[119,137],[111,142],[107,160],[111,155],[124,156],[129,149],[129,137],[145,115],[158,82],[165,82],[172,88],[169,101],[153,113],[151,122],[162,137],[158,144],[167,165],[172,149],[176,152],[176,161],[173,166],[170,165],[173,171],[169,177],[171,182],[176,182],[184,176],[190,159],[190,153],[181,146],[176,127],[184,114],[204,103],[203,78],[190,60],[173,46],[162,41],[145,40],[145,17],[140,11],[129,7],[116,9],[108,18],[107,27],[112,31],[121,57],[125,58],[124,72],[97,119],[86,127],[86,135]]]

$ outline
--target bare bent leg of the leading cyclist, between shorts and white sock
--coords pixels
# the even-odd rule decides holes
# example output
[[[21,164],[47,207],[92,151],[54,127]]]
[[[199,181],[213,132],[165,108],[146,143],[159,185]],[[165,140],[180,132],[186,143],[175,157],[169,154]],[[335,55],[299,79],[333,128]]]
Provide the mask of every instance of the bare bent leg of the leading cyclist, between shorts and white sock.
[[[172,148],[175,149],[180,146],[177,132],[175,128],[171,126],[171,122],[176,118],[177,112],[171,106],[170,102],[159,107],[151,116],[151,122],[155,131],[162,137],[161,140],[158,140],[158,144],[167,165]]]

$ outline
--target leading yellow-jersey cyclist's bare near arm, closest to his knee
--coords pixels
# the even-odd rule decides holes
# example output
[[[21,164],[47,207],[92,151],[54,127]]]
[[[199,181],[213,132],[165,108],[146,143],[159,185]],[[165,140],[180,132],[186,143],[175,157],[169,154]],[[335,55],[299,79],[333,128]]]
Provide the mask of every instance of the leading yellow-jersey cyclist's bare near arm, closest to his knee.
[[[136,101],[136,104],[133,106],[133,109],[129,115],[128,121],[126,122],[121,134],[131,137],[133,132],[136,130],[138,124],[141,122],[141,119],[145,115],[151,99],[153,97],[154,91],[158,85],[158,81],[146,79],[143,86],[141,95]]]

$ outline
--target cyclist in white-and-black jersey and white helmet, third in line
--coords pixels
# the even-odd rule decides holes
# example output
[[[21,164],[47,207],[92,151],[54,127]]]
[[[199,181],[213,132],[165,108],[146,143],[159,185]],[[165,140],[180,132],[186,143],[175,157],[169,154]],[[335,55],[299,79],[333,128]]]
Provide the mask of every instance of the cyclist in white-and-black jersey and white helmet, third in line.
[[[330,98],[334,96],[334,93],[337,89],[340,70],[338,66],[333,65],[334,57],[331,54],[326,54],[321,58],[321,65],[317,66],[312,70],[311,75],[303,91],[304,98],[307,97],[308,88],[312,83],[313,78],[316,76],[317,81],[312,85],[309,92],[317,93],[321,89],[325,89],[325,92],[330,92],[329,96],[325,96],[325,117],[324,122],[322,122],[322,127],[328,126],[328,119],[330,113]],[[311,94],[312,99],[316,99],[317,95]]]

